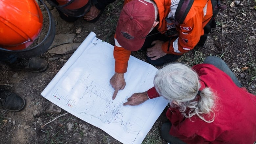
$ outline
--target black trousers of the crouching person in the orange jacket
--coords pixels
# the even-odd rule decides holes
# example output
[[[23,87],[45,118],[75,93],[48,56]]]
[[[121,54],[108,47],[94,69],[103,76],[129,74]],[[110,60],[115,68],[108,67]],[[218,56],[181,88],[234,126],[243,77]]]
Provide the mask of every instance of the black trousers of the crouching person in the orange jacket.
[[[151,34],[154,34],[154,35],[151,35]],[[145,42],[140,49],[142,51],[146,51],[147,48],[151,48],[153,46],[153,45],[151,45],[151,43],[154,40],[161,40],[161,41],[165,42],[165,41],[169,41],[172,38],[172,37],[168,37],[168,36],[165,36],[164,34],[159,33],[159,31],[157,31],[156,29],[153,29],[153,31],[151,31],[148,35],[151,35],[151,36],[146,37]],[[179,57],[181,57],[181,55],[166,54],[165,56],[162,56],[156,60],[151,60],[150,59],[151,57],[148,57],[148,56],[146,56],[146,59],[152,65],[161,66],[161,65],[167,64],[169,62],[175,61]]]

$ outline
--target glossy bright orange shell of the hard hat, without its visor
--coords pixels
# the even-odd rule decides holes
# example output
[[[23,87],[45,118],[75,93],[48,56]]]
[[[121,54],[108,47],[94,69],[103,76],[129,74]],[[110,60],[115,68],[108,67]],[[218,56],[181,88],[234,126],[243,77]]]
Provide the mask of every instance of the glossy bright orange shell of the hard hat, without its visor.
[[[0,47],[28,48],[38,37],[43,15],[34,0],[0,0]]]

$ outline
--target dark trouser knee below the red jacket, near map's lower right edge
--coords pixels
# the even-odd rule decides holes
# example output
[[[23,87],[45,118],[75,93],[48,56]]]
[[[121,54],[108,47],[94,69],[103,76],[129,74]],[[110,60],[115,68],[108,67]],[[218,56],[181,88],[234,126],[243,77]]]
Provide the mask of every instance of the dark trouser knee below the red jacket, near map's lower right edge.
[[[161,136],[162,136],[162,138],[164,140],[166,140],[168,143],[171,143],[171,144],[186,144],[185,142],[183,142],[179,138],[174,137],[174,136],[169,134],[171,127],[172,127],[172,124],[170,122],[164,123],[162,125],[162,127],[161,127]]]

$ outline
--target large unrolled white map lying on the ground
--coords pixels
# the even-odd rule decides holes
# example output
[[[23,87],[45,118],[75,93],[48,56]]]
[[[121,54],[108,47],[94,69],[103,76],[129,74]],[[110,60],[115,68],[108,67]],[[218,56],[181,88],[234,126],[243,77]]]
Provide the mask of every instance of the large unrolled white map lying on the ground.
[[[112,100],[113,48],[91,32],[41,95],[124,144],[140,144],[168,102],[158,97],[138,106],[122,105],[133,93],[152,88],[157,71],[133,56],[124,74],[125,89]]]

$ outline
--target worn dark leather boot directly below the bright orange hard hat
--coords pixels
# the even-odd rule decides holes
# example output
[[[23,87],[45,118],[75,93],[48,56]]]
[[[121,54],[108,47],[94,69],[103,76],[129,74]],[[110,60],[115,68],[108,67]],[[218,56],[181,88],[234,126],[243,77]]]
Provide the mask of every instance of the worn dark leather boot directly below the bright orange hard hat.
[[[10,71],[27,70],[34,73],[44,72],[48,67],[47,61],[40,57],[32,57],[30,59],[17,58],[14,63],[7,65]]]

